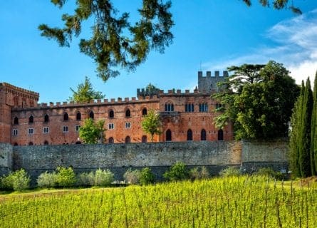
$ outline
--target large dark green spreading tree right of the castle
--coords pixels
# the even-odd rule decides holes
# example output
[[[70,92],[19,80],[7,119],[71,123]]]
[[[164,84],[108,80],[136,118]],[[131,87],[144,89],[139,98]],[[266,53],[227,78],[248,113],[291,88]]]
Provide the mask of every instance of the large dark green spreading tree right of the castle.
[[[222,103],[214,118],[217,128],[231,120],[235,138],[276,138],[286,136],[298,86],[281,63],[232,66],[233,71],[219,86],[227,88],[212,95]]]

